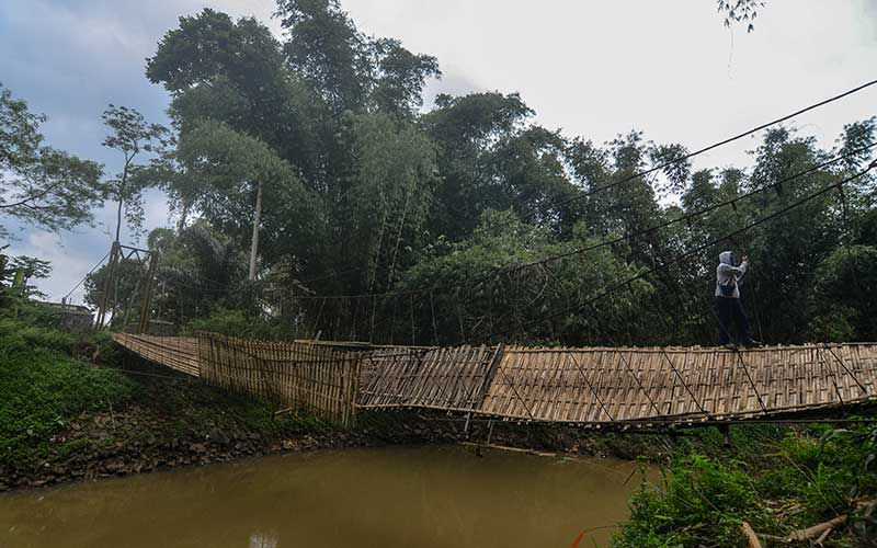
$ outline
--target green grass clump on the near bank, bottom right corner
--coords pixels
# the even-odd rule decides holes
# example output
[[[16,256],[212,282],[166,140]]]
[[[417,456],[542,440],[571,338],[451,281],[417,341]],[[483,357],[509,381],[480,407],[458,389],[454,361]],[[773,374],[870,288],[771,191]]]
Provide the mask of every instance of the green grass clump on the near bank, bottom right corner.
[[[877,426],[736,431],[736,458],[719,455],[709,431],[677,444],[662,480],[643,481],[635,494],[614,546],[745,546],[744,521],[759,534],[785,537],[840,514],[850,514],[850,529],[825,546],[877,538],[877,521],[859,504],[877,499]],[[693,447],[714,454],[682,453]]]

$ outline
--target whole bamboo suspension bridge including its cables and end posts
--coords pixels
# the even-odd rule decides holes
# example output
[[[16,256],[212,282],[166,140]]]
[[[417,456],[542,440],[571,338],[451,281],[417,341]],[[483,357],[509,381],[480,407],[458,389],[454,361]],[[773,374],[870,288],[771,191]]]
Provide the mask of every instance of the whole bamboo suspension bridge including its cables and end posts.
[[[872,85],[877,85],[877,80],[606,186],[591,189],[566,202],[582,199],[596,192],[639,180]],[[312,340],[264,342],[210,333],[201,333],[197,338],[124,333],[114,336],[128,351],[160,366],[219,387],[269,399],[281,409],[306,408],[323,419],[345,425],[355,421],[357,412],[392,409],[465,413],[467,419],[476,415],[488,420],[624,426],[659,423],[727,424],[738,420],[776,420],[848,408],[877,398],[877,343],[821,343],[749,350],[703,346],[548,349],[503,344],[441,347],[437,346],[436,318],[453,317],[454,311],[445,310],[444,313],[440,311],[436,315],[433,297],[435,293],[448,293],[459,289],[460,286],[481,287],[499,274],[536,271],[547,263],[579,256],[597,248],[620,242],[633,243],[673,224],[685,222],[691,227],[693,221],[719,209],[737,210],[737,203],[740,201],[770,196],[772,193],[782,195],[784,183],[824,170],[857,155],[869,155],[875,147],[877,142],[868,142],[785,179],[640,231],[535,262],[493,269],[472,281],[455,283],[453,286],[430,286],[384,294],[296,297],[299,304],[314,304],[301,307],[303,317],[316,313],[312,327],[303,330],[314,335],[314,339],[328,332],[330,336],[343,338],[368,333],[369,341],[376,340],[373,339],[376,336],[375,326],[381,323],[376,322],[377,305],[380,301],[386,307],[389,301],[391,313],[388,340],[394,341],[394,330],[398,323],[397,308],[400,301],[408,301],[412,346],[320,343]],[[659,272],[667,273],[670,266],[707,253],[726,241],[732,241],[734,237],[772,222],[829,193],[838,195],[842,219],[848,226],[843,187],[864,178],[875,168],[877,161],[852,175],[841,178],[839,174],[835,182],[798,197],[793,203],[783,202],[778,209],[729,233],[708,242],[695,241],[680,254],[656,260],[651,267],[636,275],[596,288],[584,300],[571,299],[568,308],[549,310],[547,315],[537,315],[527,319],[526,323],[517,322],[504,330],[493,329],[491,326],[490,333],[480,340],[467,335],[462,313],[457,310],[460,341],[504,340],[508,339],[505,335],[511,335],[515,330],[521,331],[580,312],[592,307],[595,301],[628,288],[638,279]],[[127,249],[133,248],[116,243],[110,253],[111,276],[105,282],[105,295],[110,294],[113,283],[113,266],[119,258],[125,256],[123,252]],[[157,262],[155,255],[150,254],[149,259],[150,267],[143,284],[145,297],[141,299],[140,333],[148,331],[149,327],[149,296]],[[145,260],[141,263],[146,264]],[[674,287],[669,289],[676,292],[677,301],[683,300],[683,296]],[[421,304],[417,311],[415,300]],[[324,312],[327,302],[330,306]],[[361,308],[363,313],[360,313]],[[103,305],[99,327],[103,324],[105,310],[106,306]],[[344,310],[352,310],[353,318],[351,326],[341,329]],[[297,320],[296,329],[299,323],[305,326],[307,322]],[[432,327],[436,346],[414,346],[418,324]],[[328,329],[323,331],[323,328]]]

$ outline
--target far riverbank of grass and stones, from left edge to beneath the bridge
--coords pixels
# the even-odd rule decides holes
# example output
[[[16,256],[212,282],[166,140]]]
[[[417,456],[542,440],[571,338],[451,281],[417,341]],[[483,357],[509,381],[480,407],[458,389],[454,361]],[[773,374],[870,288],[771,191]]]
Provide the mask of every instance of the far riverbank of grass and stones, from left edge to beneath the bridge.
[[[667,460],[687,443],[650,434],[471,422],[444,413],[360,415],[341,430],[123,354],[107,336],[77,340],[0,322],[0,491],[206,465],[247,456],[367,445],[470,442],[535,452]],[[699,435],[720,444],[718,433]]]

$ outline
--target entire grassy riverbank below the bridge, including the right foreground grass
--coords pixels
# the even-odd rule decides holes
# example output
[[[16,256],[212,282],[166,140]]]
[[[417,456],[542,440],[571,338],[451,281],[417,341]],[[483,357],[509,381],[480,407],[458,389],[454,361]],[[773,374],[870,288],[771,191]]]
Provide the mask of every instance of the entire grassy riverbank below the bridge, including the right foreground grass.
[[[728,446],[715,427],[616,433],[426,411],[361,413],[341,430],[126,358],[105,336],[0,321],[0,491],[289,452],[466,443],[476,455],[491,445],[664,465],[663,481],[631,500],[616,546],[738,546],[743,523],[773,543],[841,517],[825,546],[877,538],[873,424],[729,434]]]

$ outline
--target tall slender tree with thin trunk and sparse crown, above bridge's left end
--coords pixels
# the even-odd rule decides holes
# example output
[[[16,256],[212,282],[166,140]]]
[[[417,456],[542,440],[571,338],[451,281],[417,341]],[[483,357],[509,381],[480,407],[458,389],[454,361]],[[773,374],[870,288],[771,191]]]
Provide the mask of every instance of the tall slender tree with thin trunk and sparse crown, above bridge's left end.
[[[149,185],[148,178],[138,178],[141,165],[134,163],[141,152],[152,152],[163,144],[168,129],[159,124],[148,124],[134,109],[110,105],[103,113],[103,122],[109,134],[103,146],[118,150],[125,162],[122,172],[105,182],[104,197],[117,203],[115,239],[119,241],[122,212],[124,209],[128,226],[139,232],[143,227],[143,191]]]

